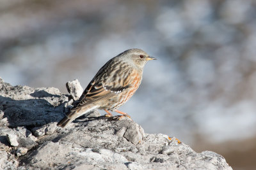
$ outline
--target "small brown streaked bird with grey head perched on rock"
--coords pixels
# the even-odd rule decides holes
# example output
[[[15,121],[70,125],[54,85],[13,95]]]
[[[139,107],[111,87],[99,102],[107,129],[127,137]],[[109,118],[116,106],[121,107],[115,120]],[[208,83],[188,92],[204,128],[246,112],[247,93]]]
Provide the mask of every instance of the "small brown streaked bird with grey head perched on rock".
[[[156,60],[138,48],[125,50],[110,59],[102,66],[72,110],[58,122],[58,126],[66,127],[77,117],[94,109],[106,111],[106,117],[115,111],[129,117],[127,113],[117,110],[126,103],[140,86],[143,68],[148,60]]]

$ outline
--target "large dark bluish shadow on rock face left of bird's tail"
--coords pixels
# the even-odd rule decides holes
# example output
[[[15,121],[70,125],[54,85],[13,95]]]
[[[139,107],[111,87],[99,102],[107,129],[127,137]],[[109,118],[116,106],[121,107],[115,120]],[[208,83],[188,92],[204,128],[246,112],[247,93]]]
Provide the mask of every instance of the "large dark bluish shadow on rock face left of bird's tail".
[[[60,120],[65,114],[65,104],[52,106],[45,99],[12,100],[0,96],[4,117],[10,127],[41,126]]]

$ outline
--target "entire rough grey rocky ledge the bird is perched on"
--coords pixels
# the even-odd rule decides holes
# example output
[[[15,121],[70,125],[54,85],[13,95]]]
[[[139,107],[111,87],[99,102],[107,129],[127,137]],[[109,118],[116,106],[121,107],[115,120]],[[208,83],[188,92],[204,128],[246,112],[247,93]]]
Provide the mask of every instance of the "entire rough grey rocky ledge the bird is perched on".
[[[77,80],[67,89],[12,87],[0,78],[0,169],[232,169],[217,153],[196,153],[97,110],[56,127],[83,91]]]

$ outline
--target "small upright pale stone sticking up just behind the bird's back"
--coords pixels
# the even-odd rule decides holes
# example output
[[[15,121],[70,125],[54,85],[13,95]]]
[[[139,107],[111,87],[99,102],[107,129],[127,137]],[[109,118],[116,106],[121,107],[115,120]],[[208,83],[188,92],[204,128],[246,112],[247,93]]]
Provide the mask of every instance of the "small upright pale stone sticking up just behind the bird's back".
[[[68,81],[66,83],[66,87],[74,101],[77,101],[79,97],[83,94],[83,87],[77,79],[73,81]]]

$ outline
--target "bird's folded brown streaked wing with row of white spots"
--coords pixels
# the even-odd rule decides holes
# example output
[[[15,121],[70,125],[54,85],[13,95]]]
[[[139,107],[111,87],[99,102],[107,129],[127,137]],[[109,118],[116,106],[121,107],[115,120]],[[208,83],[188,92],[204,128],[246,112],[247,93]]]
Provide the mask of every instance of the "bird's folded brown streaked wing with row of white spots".
[[[108,64],[108,62],[106,64]],[[120,69],[115,68],[113,70],[113,67],[108,68],[108,65],[106,66],[106,64],[86,87],[77,101],[77,105],[74,106],[72,110],[78,110],[86,104],[92,104],[116,96],[130,87],[130,69],[120,71]],[[119,72],[117,70],[119,70]],[[122,75],[120,75],[121,73]]]

